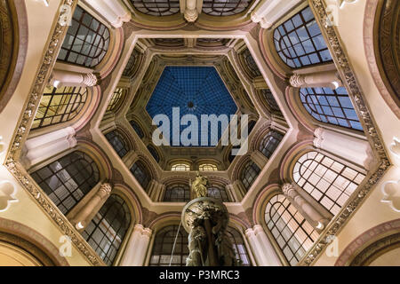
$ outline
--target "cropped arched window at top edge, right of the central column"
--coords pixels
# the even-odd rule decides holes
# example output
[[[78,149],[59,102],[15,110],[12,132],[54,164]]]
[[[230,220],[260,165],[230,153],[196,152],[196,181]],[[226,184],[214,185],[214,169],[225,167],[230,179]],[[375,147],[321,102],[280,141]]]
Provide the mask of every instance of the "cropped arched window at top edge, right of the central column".
[[[203,12],[211,16],[230,16],[244,12],[252,0],[203,0]]]

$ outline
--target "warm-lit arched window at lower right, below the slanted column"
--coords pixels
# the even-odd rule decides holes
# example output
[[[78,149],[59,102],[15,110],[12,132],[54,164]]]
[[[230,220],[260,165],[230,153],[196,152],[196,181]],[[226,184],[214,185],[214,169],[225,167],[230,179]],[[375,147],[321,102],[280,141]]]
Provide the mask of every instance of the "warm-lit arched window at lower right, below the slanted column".
[[[276,194],[268,201],[265,222],[291,265],[296,265],[319,237],[284,194]]]

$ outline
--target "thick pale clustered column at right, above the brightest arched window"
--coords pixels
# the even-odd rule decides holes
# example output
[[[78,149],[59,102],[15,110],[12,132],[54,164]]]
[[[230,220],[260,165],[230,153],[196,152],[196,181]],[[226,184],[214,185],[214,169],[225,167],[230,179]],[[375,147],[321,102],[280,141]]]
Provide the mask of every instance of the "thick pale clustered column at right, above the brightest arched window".
[[[314,146],[343,157],[370,170],[373,164],[372,149],[368,141],[344,135],[340,132],[317,128],[314,132]]]

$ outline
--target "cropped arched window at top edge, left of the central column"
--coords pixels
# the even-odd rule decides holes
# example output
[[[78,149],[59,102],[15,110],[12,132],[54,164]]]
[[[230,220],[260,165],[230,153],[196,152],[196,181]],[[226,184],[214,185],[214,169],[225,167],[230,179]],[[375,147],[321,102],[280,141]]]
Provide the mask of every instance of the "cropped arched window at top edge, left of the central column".
[[[179,0],[131,0],[133,7],[150,16],[170,16],[180,12]]]

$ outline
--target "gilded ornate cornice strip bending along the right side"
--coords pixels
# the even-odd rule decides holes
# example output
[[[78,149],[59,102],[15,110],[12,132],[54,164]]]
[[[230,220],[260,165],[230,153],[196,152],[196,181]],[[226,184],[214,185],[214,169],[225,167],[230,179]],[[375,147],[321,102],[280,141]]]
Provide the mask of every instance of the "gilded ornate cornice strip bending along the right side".
[[[348,61],[348,57],[334,26],[329,25],[329,16],[326,13],[324,0],[308,0],[308,2],[310,7],[314,10],[316,20],[319,22],[320,28],[327,39],[327,45],[331,51],[332,58],[338,68],[343,83],[348,89],[348,96],[353,101],[358,117],[361,118],[360,122],[363,124],[365,135],[372,144],[372,148],[375,150],[377,160],[380,164],[377,170],[368,176],[368,180],[364,181],[364,183],[357,188],[353,195],[354,197],[348,201],[340,210],[340,213],[332,219],[324,233],[320,235],[313,247],[310,248],[308,253],[300,260],[299,265],[311,265],[316,262],[317,257],[321,255],[324,248],[329,244],[329,241],[326,241],[326,237],[328,235],[337,235],[340,233],[340,230],[347,223],[349,217],[355,213],[356,209],[364,201],[364,198],[372,190],[372,187],[378,183],[390,166],[384,146],[382,145],[380,136],[375,127],[375,122],[364,100],[363,91],[356,80],[356,75],[350,66],[350,62]]]

